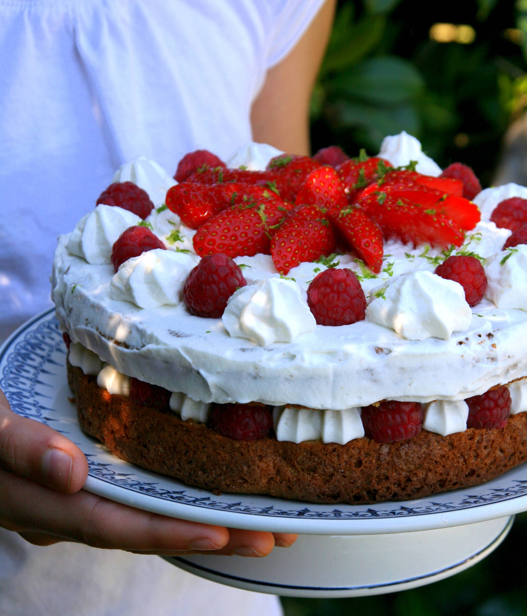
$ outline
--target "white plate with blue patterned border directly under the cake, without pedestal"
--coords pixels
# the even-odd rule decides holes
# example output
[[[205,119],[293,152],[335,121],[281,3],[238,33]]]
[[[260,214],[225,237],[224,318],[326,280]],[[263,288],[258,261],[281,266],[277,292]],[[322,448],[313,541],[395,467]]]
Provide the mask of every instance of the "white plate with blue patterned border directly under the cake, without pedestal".
[[[66,383],[52,310],[22,325],[0,350],[0,388],[18,415],[62,432],[89,462],[85,489],[139,509],[207,524],[320,535],[367,535],[472,524],[527,510],[527,463],[477,487],[377,505],[313,505],[189,487],[116,458],[86,436]]]

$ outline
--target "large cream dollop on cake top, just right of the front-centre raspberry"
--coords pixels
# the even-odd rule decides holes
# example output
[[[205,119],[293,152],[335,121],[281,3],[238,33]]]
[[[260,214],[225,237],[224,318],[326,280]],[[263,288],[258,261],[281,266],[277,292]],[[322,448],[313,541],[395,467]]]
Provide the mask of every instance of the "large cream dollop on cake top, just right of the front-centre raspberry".
[[[459,283],[431,272],[408,272],[374,291],[366,319],[408,340],[448,340],[453,331],[469,328],[472,310]]]

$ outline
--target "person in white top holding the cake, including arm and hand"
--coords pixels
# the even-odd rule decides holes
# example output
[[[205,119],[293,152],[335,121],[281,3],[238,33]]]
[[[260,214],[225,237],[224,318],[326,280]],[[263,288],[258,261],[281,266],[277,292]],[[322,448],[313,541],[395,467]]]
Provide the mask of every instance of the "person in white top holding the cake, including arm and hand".
[[[190,150],[225,159],[251,139],[308,153],[334,4],[0,0],[0,340],[50,306],[58,233],[122,163],[173,172]],[[86,477],[76,445],[0,394],[0,614],[280,612],[153,555],[265,556],[294,535],[146,513],[84,492]]]

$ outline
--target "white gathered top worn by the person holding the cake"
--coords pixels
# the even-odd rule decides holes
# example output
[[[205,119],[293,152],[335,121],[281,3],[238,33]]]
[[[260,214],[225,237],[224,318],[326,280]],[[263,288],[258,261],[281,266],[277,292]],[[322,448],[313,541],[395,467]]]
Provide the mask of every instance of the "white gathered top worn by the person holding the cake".
[[[58,233],[115,169],[145,155],[251,140],[268,68],[323,0],[0,0],[0,341],[51,306]],[[21,591],[23,589],[23,591]],[[202,608],[202,609],[200,609]],[[198,580],[153,556],[0,532],[0,613],[276,614],[278,602]]]

